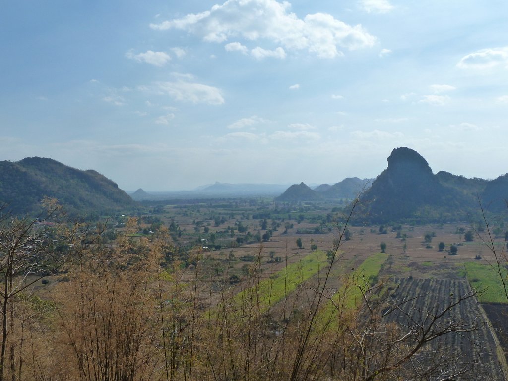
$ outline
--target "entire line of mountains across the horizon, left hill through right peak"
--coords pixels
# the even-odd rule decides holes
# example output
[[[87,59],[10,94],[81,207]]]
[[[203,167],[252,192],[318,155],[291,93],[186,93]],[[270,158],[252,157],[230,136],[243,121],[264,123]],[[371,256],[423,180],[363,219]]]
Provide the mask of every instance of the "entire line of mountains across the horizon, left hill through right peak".
[[[464,219],[479,211],[505,212],[508,205],[508,174],[494,180],[466,178],[449,172],[433,174],[417,151],[395,148],[388,168],[375,179],[348,177],[333,185],[313,189],[301,182],[280,184],[219,183],[181,193],[148,194],[138,189],[132,198],[112,180],[94,170],[79,170],[50,158],[27,157],[19,162],[0,161],[0,205],[2,211],[35,214],[44,197],[56,198],[69,212],[102,213],[136,207],[134,200],[174,198],[253,197],[279,195],[277,202],[354,199],[361,195],[356,213],[371,223],[419,220],[446,222]],[[133,200],[134,199],[134,200]],[[342,203],[342,202],[341,202]]]

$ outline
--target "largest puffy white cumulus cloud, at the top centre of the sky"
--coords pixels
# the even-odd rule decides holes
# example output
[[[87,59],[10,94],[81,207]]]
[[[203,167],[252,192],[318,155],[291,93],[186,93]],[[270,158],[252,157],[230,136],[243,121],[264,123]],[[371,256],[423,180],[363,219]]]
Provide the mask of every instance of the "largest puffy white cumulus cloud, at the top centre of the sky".
[[[275,0],[228,0],[209,11],[150,24],[150,27],[185,30],[204,41],[217,43],[241,36],[249,41],[263,40],[281,45],[279,54],[281,49],[306,50],[326,58],[342,55],[341,49],[371,47],[376,41],[361,25],[348,25],[324,13],[301,19],[290,12],[290,8],[288,2]],[[383,5],[377,8],[371,5],[371,8],[383,9]]]

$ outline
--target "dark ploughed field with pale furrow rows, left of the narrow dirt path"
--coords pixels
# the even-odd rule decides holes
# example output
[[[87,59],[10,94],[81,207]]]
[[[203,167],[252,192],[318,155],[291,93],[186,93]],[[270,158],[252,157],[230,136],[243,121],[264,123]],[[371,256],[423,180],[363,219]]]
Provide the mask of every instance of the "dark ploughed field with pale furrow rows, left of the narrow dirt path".
[[[396,323],[403,327],[402,330],[425,326],[429,322],[428,314],[436,314],[458,298],[471,295],[468,283],[463,280],[393,278],[392,281],[392,303],[400,303],[404,298],[411,300],[387,316],[388,322]],[[439,359],[440,356],[448,357],[454,359],[453,366],[471,368],[468,379],[471,379],[471,374],[481,377],[479,379],[501,379],[496,344],[474,297],[461,301],[432,330],[437,331],[439,327],[453,322],[464,329],[469,324],[478,325],[481,329],[453,332],[438,338],[419,355],[420,361],[434,361],[436,356]]]

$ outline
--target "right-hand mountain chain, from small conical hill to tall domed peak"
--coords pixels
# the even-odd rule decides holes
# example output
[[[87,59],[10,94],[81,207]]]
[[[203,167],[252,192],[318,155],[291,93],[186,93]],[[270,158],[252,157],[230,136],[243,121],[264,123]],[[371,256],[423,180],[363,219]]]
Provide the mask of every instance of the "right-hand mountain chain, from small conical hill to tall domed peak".
[[[357,215],[359,219],[371,223],[404,219],[416,219],[422,223],[464,219],[479,210],[479,202],[487,211],[506,209],[508,174],[490,181],[444,171],[433,174],[425,158],[407,147],[395,148],[387,160],[388,168],[373,181],[348,178],[332,186],[322,184],[315,189],[302,182],[291,185],[276,200],[351,199],[357,197],[365,186]]]

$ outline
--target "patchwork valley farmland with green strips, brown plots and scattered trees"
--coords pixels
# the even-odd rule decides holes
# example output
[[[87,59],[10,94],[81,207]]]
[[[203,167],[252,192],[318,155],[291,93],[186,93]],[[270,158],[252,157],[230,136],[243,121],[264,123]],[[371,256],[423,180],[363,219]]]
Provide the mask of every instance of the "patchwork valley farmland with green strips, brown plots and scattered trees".
[[[181,247],[187,257],[193,258],[198,252],[205,275],[200,280],[199,291],[204,305],[216,304],[225,285],[230,295],[236,295],[237,302],[255,295],[260,312],[270,309],[274,314],[280,309],[281,300],[284,306],[287,300],[293,306],[297,294],[301,299],[305,295],[306,300],[313,300],[306,293],[311,293],[323,280],[329,259],[327,251],[335,247],[345,223],[335,205],[278,205],[266,199],[166,205],[150,218],[159,218],[169,227],[175,246]],[[339,255],[326,287],[327,295],[333,295],[333,302],[342,297],[342,306],[354,309],[358,305],[354,300],[361,305],[364,300],[359,293],[368,289],[364,287],[360,291],[358,285],[362,281],[364,285],[375,281],[393,283],[387,286],[395,291],[391,296],[393,303],[414,298],[385,318],[387,324],[393,323],[404,331],[419,319],[425,320],[427,312],[469,293],[470,283],[481,292],[461,301],[440,324],[478,323],[480,329],[440,337],[425,346],[417,358],[428,362],[431,354],[433,361],[438,361],[440,355],[448,356],[456,365],[471,366],[479,379],[487,378],[486,375],[502,378],[500,368],[504,365],[496,365],[499,348],[487,328],[477,298],[482,303],[503,299],[506,302],[506,298],[489,266],[493,260],[490,251],[478,236],[465,241],[464,232],[472,229],[471,223],[346,227],[347,239],[340,242]],[[502,244],[502,235],[496,240]],[[383,255],[379,253],[382,243],[386,244]],[[452,246],[457,248],[456,252],[452,252]],[[187,266],[187,279],[191,279],[194,265],[187,263]],[[353,287],[343,291],[345,284]],[[327,302],[324,306],[324,320],[330,315],[327,311],[332,304]],[[503,337],[508,328],[501,327],[506,319],[500,312],[505,307],[484,305],[499,343],[508,353],[508,340]]]

